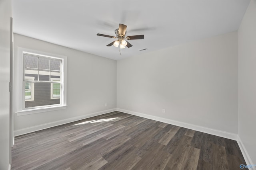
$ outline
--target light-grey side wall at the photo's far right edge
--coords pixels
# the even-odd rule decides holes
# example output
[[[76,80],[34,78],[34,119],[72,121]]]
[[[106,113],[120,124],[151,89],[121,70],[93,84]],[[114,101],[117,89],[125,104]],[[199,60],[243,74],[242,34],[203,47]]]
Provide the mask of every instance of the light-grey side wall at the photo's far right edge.
[[[256,164],[256,0],[238,29],[238,135]]]

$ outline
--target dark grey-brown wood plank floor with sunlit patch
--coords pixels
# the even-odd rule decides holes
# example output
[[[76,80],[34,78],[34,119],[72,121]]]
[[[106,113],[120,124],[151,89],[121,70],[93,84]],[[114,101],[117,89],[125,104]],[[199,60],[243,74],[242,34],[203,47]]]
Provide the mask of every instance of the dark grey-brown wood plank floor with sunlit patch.
[[[236,141],[112,112],[15,137],[12,170],[240,170]]]

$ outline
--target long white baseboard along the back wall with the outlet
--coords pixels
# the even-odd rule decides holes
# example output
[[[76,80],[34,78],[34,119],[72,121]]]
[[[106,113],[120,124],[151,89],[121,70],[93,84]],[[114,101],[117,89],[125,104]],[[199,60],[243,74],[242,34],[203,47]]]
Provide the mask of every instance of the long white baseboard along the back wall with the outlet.
[[[180,127],[185,127],[187,129],[192,129],[192,130],[195,130],[195,131],[208,133],[208,134],[211,134],[211,135],[216,135],[216,136],[219,136],[219,137],[232,139],[232,140],[235,140],[235,141],[238,139],[237,138],[238,135],[235,134],[235,133],[220,131],[220,130],[211,129],[211,128],[208,128],[208,127],[193,125],[193,124],[190,124],[190,123],[184,123],[184,122],[175,121],[175,120],[171,120],[171,119],[166,119],[166,118],[162,118],[162,117],[147,115],[147,114],[144,114],[144,113],[138,113],[138,112],[130,111],[130,110],[126,110],[126,109],[117,108],[116,110],[124,112],[124,113],[131,114],[131,115],[136,115],[136,116],[139,116],[139,117],[144,117],[144,118],[147,118],[147,119],[152,119],[152,120],[156,120],[156,121],[160,121],[160,122],[164,122],[164,123],[168,123],[168,124],[172,124],[172,125],[176,125],[176,126],[180,126]]]

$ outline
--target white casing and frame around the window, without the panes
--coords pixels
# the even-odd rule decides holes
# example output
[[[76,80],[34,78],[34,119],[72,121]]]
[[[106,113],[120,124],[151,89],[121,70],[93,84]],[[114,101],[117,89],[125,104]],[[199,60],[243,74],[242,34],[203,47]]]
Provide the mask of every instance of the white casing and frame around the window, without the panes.
[[[23,96],[24,96],[24,89],[23,89],[23,76],[24,76],[24,70],[23,70],[23,54],[28,53],[32,55],[39,55],[42,57],[50,57],[50,58],[56,58],[56,59],[62,59],[62,95],[61,95],[61,104],[58,105],[49,105],[49,106],[40,106],[40,107],[29,107],[24,108],[23,104]],[[54,111],[59,109],[66,109],[67,106],[67,89],[66,89],[66,80],[67,80],[67,57],[63,55],[56,55],[52,53],[46,53],[42,51],[36,51],[33,49],[26,49],[22,47],[18,47],[18,53],[17,53],[17,64],[19,65],[16,69],[16,76],[17,83],[14,85],[15,91],[17,92],[17,98],[15,98],[15,106],[14,106],[14,112],[20,116],[20,115],[28,115],[28,114],[34,114],[34,113],[42,113],[47,111]]]

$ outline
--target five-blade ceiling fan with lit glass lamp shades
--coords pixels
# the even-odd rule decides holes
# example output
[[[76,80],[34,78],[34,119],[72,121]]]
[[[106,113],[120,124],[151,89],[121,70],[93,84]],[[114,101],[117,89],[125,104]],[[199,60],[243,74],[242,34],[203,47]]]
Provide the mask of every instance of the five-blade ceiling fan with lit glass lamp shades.
[[[116,33],[116,37],[111,36],[111,35],[104,35],[104,34],[100,34],[97,33],[98,36],[102,36],[102,37],[109,37],[109,38],[117,38],[117,40],[113,41],[112,43],[106,45],[108,47],[114,45],[115,47],[120,47],[120,49],[124,49],[125,46],[130,48],[132,47],[132,45],[126,41],[126,40],[132,40],[132,39],[144,39],[144,35],[132,35],[132,36],[127,36],[126,35],[126,25],[119,23],[119,28],[115,30]]]

